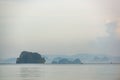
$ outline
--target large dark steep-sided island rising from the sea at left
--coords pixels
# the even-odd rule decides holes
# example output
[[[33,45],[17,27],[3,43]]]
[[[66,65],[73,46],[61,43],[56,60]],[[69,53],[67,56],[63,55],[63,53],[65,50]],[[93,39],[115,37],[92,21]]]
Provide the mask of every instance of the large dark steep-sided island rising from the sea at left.
[[[36,52],[21,52],[20,56],[17,58],[16,63],[45,63],[45,58],[43,58],[39,53]]]

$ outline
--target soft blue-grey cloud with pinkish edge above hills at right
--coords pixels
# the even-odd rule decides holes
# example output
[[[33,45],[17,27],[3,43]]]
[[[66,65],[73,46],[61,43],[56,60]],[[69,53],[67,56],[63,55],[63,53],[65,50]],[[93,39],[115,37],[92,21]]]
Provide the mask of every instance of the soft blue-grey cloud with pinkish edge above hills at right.
[[[108,22],[105,25],[107,27],[106,32],[108,33],[107,37],[99,37],[94,44],[94,48],[101,53],[107,53],[112,55],[120,55],[120,35],[118,30],[120,26],[118,22]]]

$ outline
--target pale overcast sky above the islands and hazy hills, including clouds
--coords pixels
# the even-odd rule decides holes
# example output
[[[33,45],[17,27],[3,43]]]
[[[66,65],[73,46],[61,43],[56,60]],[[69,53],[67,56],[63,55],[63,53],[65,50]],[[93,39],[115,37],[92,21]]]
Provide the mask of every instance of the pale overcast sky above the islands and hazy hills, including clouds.
[[[120,0],[0,0],[0,59],[22,51],[120,56]]]

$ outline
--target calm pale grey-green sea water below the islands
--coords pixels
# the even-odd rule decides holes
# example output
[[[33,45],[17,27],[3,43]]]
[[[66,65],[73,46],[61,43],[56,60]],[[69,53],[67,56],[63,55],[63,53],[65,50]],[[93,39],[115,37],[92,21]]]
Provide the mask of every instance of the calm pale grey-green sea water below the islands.
[[[120,80],[120,65],[4,64],[0,80]]]

